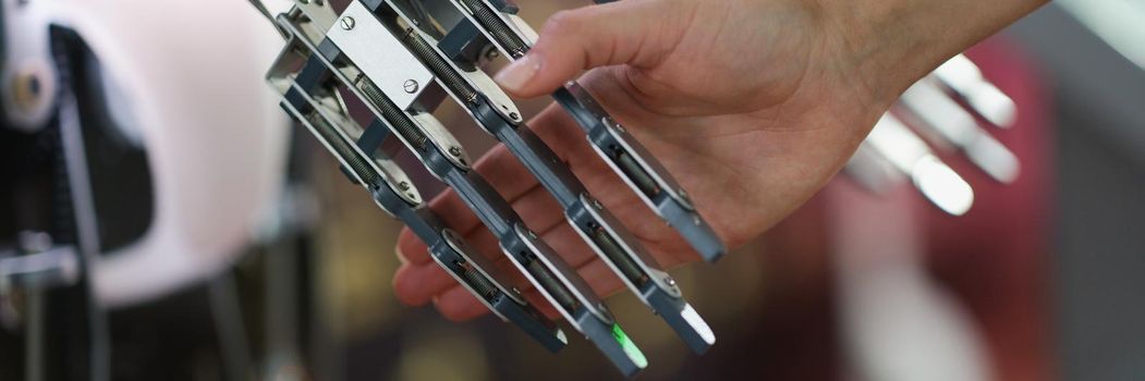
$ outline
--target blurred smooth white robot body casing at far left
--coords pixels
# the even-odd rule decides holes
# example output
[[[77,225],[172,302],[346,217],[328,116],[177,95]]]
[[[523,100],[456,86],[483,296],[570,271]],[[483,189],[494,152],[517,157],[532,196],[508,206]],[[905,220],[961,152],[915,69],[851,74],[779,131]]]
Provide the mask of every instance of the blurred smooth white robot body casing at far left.
[[[134,119],[147,148],[152,224],[93,264],[101,304],[157,297],[230,264],[283,182],[289,129],[261,80],[281,37],[245,1],[2,1],[6,23],[17,19],[7,42],[22,41],[9,51],[24,55],[5,57],[3,81],[47,51],[49,24],[74,30],[118,85],[123,98],[109,104],[129,110],[117,118]],[[34,125],[37,113],[23,114],[17,124]]]

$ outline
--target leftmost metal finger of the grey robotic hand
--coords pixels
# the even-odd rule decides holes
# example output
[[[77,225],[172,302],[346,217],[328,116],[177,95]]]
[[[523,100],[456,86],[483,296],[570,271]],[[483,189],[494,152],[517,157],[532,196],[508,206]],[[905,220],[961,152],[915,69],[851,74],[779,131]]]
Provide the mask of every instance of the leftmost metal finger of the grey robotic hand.
[[[515,288],[507,286],[510,283],[488,259],[474,253],[425,207],[413,183],[396,164],[384,154],[371,157],[355,143],[347,132],[362,132],[362,128],[344,110],[331,106],[337,104],[337,100],[331,98],[335,89],[323,82],[321,77],[324,76],[315,77],[310,72],[295,76],[292,72],[291,66],[308,59],[301,51],[299,45],[290,43],[268,76],[268,81],[283,96],[282,108],[326,146],[341,162],[347,176],[370,191],[379,207],[409,225],[429,247],[431,256],[479,301],[548,350],[563,348],[567,343],[564,333],[522,299]]]

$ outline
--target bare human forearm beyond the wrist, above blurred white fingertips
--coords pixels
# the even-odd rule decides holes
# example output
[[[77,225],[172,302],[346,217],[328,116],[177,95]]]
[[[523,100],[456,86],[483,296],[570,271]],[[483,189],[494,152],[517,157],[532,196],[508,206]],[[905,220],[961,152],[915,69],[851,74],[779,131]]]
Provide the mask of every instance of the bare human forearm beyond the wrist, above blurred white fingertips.
[[[890,104],[949,57],[1048,0],[860,0],[830,5],[855,72]]]

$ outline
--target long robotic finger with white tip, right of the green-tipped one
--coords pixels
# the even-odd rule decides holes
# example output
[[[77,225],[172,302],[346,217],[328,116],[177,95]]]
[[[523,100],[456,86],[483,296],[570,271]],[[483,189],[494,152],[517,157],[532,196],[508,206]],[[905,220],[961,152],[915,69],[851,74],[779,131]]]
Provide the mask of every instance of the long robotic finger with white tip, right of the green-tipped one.
[[[696,352],[702,354],[716,338],[708,324],[684,300],[676,281],[663,271],[643,246],[589,195],[576,178],[540,138],[524,126],[512,100],[488,74],[476,69],[477,63],[450,57],[463,57],[458,43],[447,51],[434,35],[457,35],[475,30],[440,33],[428,19],[411,17],[394,1],[376,1],[371,10],[384,16],[395,34],[404,35],[403,42],[434,71],[449,93],[477,124],[516,156],[542,185],[561,204],[568,222],[598,256],[605,261],[625,285],[660,315]],[[371,7],[374,7],[371,5]],[[404,25],[402,25],[404,23]],[[409,27],[406,25],[418,25]],[[457,27],[465,27],[463,24]],[[463,68],[465,66],[465,68]]]

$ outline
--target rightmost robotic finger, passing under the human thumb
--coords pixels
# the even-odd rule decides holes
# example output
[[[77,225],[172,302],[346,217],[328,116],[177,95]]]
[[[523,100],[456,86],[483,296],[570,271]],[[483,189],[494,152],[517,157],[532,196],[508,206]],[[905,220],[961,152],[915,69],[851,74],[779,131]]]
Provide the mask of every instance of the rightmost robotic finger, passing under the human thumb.
[[[477,43],[484,39],[485,43],[491,43],[510,59],[524,56],[536,40],[536,32],[516,15],[516,6],[508,0],[450,1],[480,31],[479,35],[474,35]],[[442,18],[451,19],[448,16]],[[452,30],[463,31],[468,27],[463,24],[464,22]],[[712,228],[696,212],[684,188],[589,92],[576,81],[569,81],[553,93],[553,98],[576,119],[593,149],[609,167],[704,260],[714,262],[727,252]]]

